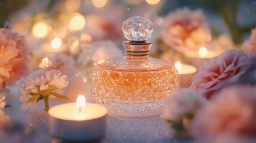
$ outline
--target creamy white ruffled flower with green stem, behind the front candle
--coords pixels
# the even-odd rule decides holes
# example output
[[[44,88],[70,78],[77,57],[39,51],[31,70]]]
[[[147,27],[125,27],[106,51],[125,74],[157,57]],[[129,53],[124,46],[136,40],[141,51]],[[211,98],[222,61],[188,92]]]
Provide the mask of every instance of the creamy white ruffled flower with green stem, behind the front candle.
[[[48,104],[50,95],[57,98],[67,99],[56,92],[59,89],[66,87],[69,83],[66,81],[67,76],[61,74],[62,73],[58,70],[48,71],[46,69],[40,69],[33,71],[29,76],[24,77],[20,86],[20,101],[23,102],[21,110],[27,110],[29,107],[35,108],[36,102],[42,99],[44,99],[45,102],[47,100],[47,103],[45,104]]]

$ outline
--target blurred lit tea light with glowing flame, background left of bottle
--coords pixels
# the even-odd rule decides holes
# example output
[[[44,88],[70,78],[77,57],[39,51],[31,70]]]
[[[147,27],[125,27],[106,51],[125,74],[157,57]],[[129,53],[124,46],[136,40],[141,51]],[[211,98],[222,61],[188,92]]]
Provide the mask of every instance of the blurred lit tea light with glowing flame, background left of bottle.
[[[51,43],[43,43],[41,45],[41,50],[44,52],[66,52],[67,45],[65,43],[62,43],[60,38],[54,38]]]

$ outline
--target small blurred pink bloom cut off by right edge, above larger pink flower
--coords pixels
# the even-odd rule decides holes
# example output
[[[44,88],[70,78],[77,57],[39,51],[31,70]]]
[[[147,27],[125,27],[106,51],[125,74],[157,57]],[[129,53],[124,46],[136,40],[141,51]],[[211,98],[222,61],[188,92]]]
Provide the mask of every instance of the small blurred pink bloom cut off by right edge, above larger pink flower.
[[[256,28],[251,30],[251,35],[243,42],[242,49],[246,53],[256,52]]]

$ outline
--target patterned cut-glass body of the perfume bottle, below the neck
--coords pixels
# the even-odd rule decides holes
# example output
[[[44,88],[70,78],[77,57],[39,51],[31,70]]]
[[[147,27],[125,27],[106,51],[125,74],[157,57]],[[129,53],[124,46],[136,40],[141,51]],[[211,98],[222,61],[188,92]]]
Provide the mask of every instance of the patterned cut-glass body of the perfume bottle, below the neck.
[[[115,58],[95,68],[92,77],[95,100],[114,113],[160,113],[165,97],[178,86],[176,69],[169,63],[163,66],[165,61],[155,58],[143,61],[128,61],[125,58]],[[111,69],[109,64],[124,64],[133,68]],[[140,65],[145,68],[138,69]],[[150,67],[152,65],[156,67]]]

